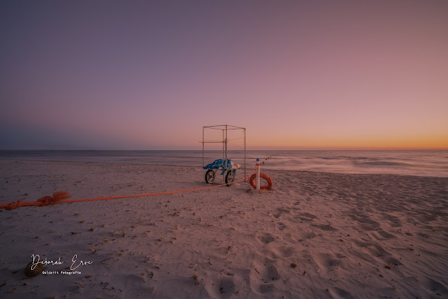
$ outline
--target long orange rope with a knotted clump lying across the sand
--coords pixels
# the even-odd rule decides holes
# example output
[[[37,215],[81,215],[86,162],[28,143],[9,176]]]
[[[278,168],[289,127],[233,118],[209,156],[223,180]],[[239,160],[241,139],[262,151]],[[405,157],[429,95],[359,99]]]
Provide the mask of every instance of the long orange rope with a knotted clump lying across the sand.
[[[254,172],[252,172],[254,173]],[[189,189],[189,190],[178,190],[178,191],[169,191],[169,192],[157,192],[157,193],[147,193],[147,194],[137,194],[137,195],[124,195],[124,196],[118,196],[118,197],[93,197],[90,199],[68,199],[71,197],[70,193],[65,191],[57,191],[53,193],[53,197],[45,196],[37,199],[37,201],[14,201],[12,203],[2,203],[0,204],[0,209],[4,208],[5,210],[14,210],[15,208],[21,208],[26,206],[51,206],[55,205],[57,203],[73,203],[73,202],[81,202],[81,201],[100,201],[100,200],[109,200],[109,199],[123,199],[123,198],[129,198],[129,197],[149,197],[153,195],[162,195],[162,194],[174,194],[174,193],[182,193],[182,192],[190,192],[190,191],[196,191],[196,190],[205,190],[205,189],[211,189],[216,187],[221,187],[223,185],[230,185],[232,183],[236,183],[239,181],[245,181],[248,179],[248,176],[245,176],[245,178],[240,179],[238,181],[232,181],[231,183],[223,183],[222,185],[216,185],[216,186],[210,186],[210,187],[204,187],[204,188],[196,188],[196,189]]]

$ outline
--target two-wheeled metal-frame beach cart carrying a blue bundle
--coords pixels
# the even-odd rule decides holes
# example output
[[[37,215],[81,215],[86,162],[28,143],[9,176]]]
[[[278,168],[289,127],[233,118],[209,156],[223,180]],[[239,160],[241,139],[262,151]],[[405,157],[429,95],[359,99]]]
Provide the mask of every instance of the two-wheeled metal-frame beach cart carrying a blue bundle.
[[[216,131],[218,130],[218,131]],[[219,132],[221,130],[222,134]],[[214,136],[212,136],[212,140],[206,139],[205,135],[206,132],[213,131],[217,133]],[[236,132],[239,132],[240,136],[234,136]],[[241,137],[241,133],[243,134]],[[231,138],[231,137],[239,137],[239,138]],[[222,138],[221,138],[222,137]],[[241,149],[232,152],[232,154],[240,154],[240,161],[243,161],[243,165],[236,164],[234,161],[232,161],[230,158],[227,158],[227,143],[233,142],[232,144],[235,145],[235,142],[241,143],[241,140],[243,141],[243,144],[240,145],[239,148]],[[206,143],[222,143],[223,144],[223,158],[216,159],[213,163],[209,163],[205,165],[204,163],[204,153],[205,153],[205,144]],[[244,168],[244,176],[245,174],[245,158],[246,158],[246,152],[245,152],[245,128],[243,127],[235,127],[231,125],[216,125],[216,126],[207,126],[203,127],[203,169],[207,170],[205,172],[205,183],[214,183],[216,179],[216,172],[218,170],[221,170],[221,175],[223,176],[223,179],[225,183],[230,186],[230,183],[235,181],[235,175],[236,170],[239,168]],[[216,147],[217,145],[215,145]],[[235,146],[234,146],[235,147]],[[236,146],[237,147],[237,146]],[[213,154],[217,154],[217,151],[212,151]],[[242,155],[243,154],[243,155]]]

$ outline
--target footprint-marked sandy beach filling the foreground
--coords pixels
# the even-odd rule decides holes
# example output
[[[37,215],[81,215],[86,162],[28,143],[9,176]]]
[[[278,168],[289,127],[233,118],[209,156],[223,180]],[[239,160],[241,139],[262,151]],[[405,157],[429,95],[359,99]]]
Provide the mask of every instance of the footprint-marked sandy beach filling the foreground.
[[[57,190],[82,199],[207,186],[200,167],[0,161],[0,169],[0,203]],[[274,188],[262,194],[239,182],[1,210],[0,296],[448,298],[447,178],[266,173]],[[27,278],[33,254],[63,264]],[[80,261],[91,264],[62,274]]]

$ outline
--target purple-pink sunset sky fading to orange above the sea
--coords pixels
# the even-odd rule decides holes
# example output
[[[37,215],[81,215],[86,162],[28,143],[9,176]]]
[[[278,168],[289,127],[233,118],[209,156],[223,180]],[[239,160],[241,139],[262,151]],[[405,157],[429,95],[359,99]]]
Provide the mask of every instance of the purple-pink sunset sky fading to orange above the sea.
[[[1,1],[0,149],[448,149],[448,1]]]

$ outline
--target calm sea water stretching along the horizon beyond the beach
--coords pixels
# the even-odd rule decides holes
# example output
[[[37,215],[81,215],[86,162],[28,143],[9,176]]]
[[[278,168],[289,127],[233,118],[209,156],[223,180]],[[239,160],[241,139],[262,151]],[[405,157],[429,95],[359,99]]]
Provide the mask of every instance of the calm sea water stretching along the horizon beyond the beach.
[[[202,166],[223,158],[222,151],[0,151],[0,159],[84,161]],[[244,165],[243,151],[228,151],[227,158]],[[256,158],[262,169],[306,170],[353,174],[406,174],[448,177],[448,151],[247,151],[248,170]]]

